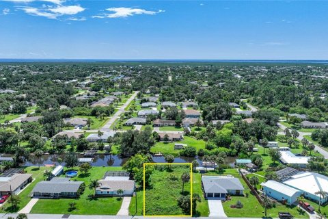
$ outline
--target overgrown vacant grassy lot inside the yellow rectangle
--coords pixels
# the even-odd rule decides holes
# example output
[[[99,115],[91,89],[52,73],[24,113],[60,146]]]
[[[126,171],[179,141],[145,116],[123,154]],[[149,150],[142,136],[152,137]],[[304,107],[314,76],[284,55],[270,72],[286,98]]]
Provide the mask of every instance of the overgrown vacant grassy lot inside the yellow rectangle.
[[[155,166],[156,167],[156,166]],[[150,186],[145,190],[146,216],[189,215],[178,206],[178,198],[189,195],[191,192],[190,181],[184,183],[182,194],[181,175],[190,173],[190,166],[174,165],[172,170],[167,170],[168,165],[163,165],[163,170],[157,170],[150,177]],[[147,168],[147,166],[146,166]]]

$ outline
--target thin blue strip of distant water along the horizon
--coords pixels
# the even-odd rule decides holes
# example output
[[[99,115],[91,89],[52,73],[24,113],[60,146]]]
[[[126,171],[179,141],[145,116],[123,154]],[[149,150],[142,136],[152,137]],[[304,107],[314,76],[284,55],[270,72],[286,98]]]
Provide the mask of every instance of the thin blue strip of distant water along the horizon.
[[[328,64],[328,60],[92,60],[92,59],[0,59],[0,62],[238,62],[238,63],[299,63]]]

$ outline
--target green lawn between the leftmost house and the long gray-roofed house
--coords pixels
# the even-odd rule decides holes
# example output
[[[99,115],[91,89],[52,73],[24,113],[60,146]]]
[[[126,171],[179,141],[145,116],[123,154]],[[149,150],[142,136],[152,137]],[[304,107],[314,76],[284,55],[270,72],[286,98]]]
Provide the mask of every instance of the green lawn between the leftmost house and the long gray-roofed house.
[[[43,177],[43,172],[44,170],[51,170],[51,168],[46,168],[46,167],[40,167],[40,169],[36,166],[30,166],[25,168],[25,172],[27,173],[31,173],[33,176],[33,179],[35,179],[33,182],[31,182],[29,185],[27,185],[27,187],[25,188],[25,190],[23,190],[22,192],[20,192],[20,194],[18,194],[18,196],[20,197],[20,203],[18,205],[18,207],[16,209],[12,209],[11,205],[9,203],[5,203],[5,205],[3,205],[0,209],[0,212],[5,212],[5,213],[9,213],[9,212],[17,212],[20,209],[23,209],[23,207],[25,207],[25,205],[27,205],[27,203],[29,203],[29,201],[31,201],[31,191],[33,190],[34,186],[36,185],[36,183],[44,180]]]

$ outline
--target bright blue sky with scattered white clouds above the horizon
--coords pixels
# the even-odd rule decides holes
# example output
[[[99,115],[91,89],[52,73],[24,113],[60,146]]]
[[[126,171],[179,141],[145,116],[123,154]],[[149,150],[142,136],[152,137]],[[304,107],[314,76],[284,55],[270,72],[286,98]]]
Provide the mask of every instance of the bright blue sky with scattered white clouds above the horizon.
[[[0,0],[0,58],[328,60],[328,1]]]

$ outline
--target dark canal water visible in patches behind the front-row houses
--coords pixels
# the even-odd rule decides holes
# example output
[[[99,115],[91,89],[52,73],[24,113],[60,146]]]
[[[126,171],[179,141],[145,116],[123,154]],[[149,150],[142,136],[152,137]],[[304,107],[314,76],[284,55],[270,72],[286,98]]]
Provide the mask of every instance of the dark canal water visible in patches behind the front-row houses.
[[[5,157],[5,155],[3,155]],[[23,166],[43,166],[45,164],[57,164],[64,165],[64,154],[61,155],[43,155],[38,159],[34,155],[29,157],[29,160],[23,164]],[[83,157],[83,155],[79,155],[79,157]],[[202,166],[201,157],[176,157],[174,159],[174,163],[191,163],[196,159],[197,162]],[[154,163],[165,163],[165,159],[163,156],[161,157],[152,157]],[[92,160],[92,166],[123,166],[128,161],[128,158],[122,158],[118,155],[104,155],[104,154],[96,154],[94,155],[94,159]],[[224,164],[227,164],[231,167],[234,167],[234,162],[236,161],[235,157],[226,157],[224,159]]]

